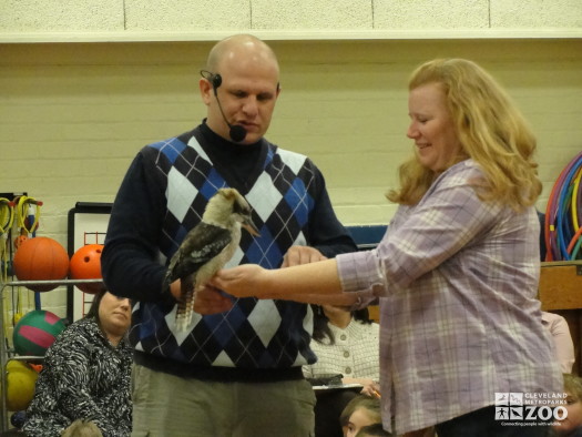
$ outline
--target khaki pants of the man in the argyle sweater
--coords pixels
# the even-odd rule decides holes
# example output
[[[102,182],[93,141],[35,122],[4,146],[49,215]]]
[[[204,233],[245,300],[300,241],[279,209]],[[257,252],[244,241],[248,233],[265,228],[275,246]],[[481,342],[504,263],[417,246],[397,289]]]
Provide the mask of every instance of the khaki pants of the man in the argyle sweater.
[[[133,367],[132,437],[313,437],[306,380],[215,383]]]

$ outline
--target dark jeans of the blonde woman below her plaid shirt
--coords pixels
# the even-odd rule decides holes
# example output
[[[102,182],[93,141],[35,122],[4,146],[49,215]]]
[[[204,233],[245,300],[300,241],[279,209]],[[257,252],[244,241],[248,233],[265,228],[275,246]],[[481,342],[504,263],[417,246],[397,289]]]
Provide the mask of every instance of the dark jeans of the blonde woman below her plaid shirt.
[[[548,437],[551,426],[503,426],[515,420],[496,420],[496,407],[490,406],[438,424],[439,437]],[[543,420],[540,420],[540,423]]]

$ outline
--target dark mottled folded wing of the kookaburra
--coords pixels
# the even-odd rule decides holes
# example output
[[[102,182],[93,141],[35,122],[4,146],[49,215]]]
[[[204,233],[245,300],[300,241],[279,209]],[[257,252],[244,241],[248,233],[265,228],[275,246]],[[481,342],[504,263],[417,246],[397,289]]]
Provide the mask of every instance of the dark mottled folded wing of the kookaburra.
[[[204,222],[188,232],[169,267],[169,285],[196,272],[218,255],[232,241],[231,231]]]

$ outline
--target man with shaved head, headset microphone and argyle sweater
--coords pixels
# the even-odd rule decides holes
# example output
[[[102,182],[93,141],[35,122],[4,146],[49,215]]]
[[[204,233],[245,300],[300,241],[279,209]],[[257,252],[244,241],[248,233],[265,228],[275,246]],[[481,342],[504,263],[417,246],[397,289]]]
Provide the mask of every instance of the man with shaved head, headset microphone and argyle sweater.
[[[180,281],[167,262],[221,187],[238,190],[261,235],[244,233],[227,266],[286,267],[356,251],[325,181],[306,156],[264,135],[279,96],[279,65],[259,39],[217,42],[201,71],[207,115],[195,129],[143,148],[113,205],[103,277],[133,307],[134,436],[313,436],[315,397],[302,365],[313,314],[298,302],[196,292],[176,329]]]

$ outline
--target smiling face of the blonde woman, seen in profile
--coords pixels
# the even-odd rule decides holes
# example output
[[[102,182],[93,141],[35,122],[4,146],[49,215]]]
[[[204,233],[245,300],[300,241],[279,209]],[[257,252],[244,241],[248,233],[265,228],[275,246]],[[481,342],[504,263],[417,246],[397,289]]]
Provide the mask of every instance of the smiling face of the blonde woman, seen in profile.
[[[443,172],[460,154],[461,144],[441,85],[427,83],[410,91],[408,114],[410,125],[406,134],[415,141],[421,165],[436,173]]]

